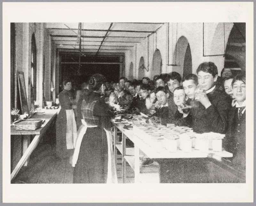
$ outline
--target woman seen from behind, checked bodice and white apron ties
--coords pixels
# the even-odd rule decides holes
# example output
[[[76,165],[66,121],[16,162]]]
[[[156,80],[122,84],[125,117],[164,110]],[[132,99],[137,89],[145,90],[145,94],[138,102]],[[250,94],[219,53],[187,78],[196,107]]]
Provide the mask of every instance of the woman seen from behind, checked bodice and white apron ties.
[[[83,124],[78,130],[72,163],[75,166],[73,183],[117,183],[109,107],[101,97],[105,82],[101,74],[89,80],[92,92],[88,94]]]

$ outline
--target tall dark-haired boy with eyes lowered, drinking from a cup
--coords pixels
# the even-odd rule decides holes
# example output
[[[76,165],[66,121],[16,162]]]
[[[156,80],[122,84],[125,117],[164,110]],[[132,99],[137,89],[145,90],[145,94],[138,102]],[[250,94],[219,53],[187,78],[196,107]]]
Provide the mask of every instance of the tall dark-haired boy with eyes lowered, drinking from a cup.
[[[218,69],[212,62],[201,63],[197,70],[198,85],[201,91],[195,92],[196,101],[204,107],[195,110],[200,113],[200,117],[195,114],[195,124],[200,133],[217,132],[225,133],[228,123],[228,110],[231,100],[223,92],[220,92],[215,82],[218,78]]]

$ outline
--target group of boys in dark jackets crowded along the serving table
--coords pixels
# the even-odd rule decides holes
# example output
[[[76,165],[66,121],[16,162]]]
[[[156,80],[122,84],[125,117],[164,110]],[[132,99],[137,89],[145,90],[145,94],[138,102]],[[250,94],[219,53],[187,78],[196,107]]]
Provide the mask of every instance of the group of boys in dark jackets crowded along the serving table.
[[[177,72],[160,75],[155,79],[154,91],[148,79],[144,84],[127,85],[133,96],[131,107],[152,115],[148,120],[152,123],[189,126],[197,133],[226,134],[225,149],[233,153],[234,163],[245,168],[245,73],[232,81],[234,107],[230,95],[216,84],[218,69],[214,63],[201,63],[196,74],[188,74],[183,80]]]

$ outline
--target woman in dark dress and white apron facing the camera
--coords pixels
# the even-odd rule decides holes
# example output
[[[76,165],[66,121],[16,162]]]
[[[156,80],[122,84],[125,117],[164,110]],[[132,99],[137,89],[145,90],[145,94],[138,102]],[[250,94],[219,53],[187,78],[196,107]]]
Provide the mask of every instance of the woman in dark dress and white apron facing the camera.
[[[70,158],[74,153],[77,129],[72,109],[71,80],[63,82],[64,90],[59,94],[60,112],[56,120],[56,153],[59,158]]]

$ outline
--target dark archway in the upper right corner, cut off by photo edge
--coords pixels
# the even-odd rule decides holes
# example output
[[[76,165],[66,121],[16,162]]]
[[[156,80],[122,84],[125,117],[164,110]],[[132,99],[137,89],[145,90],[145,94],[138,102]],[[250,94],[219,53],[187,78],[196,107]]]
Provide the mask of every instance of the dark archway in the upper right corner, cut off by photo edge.
[[[245,23],[234,23],[228,37],[224,68],[245,71]]]

